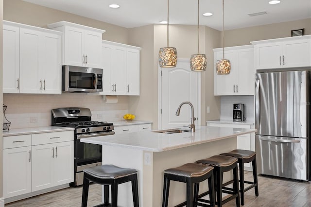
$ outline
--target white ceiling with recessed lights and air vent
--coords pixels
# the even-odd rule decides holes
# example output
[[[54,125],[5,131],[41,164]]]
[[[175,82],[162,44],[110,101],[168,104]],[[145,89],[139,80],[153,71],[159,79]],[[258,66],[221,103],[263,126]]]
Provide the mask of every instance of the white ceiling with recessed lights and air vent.
[[[167,19],[167,0],[25,0],[126,28]],[[225,0],[225,30],[311,18],[311,0]],[[197,0],[170,0],[170,24],[197,24]],[[109,4],[120,4],[111,9]],[[248,14],[267,12],[250,17]],[[211,17],[202,16],[211,12]],[[222,0],[200,0],[200,25],[222,30]],[[294,29],[294,28],[293,28]],[[301,28],[295,28],[301,29]]]

